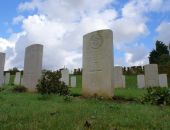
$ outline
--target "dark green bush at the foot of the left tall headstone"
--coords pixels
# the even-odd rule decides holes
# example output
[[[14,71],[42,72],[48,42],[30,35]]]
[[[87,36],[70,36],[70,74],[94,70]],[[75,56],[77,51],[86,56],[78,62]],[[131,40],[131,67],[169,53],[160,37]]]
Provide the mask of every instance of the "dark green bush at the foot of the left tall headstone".
[[[41,94],[68,95],[69,88],[64,82],[60,81],[60,71],[44,71],[37,84],[37,90]]]

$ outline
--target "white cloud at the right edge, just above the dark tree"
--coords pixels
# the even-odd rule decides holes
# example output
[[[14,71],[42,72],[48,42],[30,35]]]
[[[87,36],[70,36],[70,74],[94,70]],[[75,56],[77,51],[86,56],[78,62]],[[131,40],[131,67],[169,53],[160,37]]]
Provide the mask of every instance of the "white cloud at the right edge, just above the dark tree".
[[[170,43],[170,22],[162,22],[156,31],[158,32],[157,40],[163,41],[166,44]]]

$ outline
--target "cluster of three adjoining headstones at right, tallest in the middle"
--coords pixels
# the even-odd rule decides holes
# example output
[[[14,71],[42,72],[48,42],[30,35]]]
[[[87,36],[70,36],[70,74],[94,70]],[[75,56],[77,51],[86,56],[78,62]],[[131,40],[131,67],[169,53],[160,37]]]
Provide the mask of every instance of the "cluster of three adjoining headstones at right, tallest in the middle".
[[[149,64],[144,66],[145,75],[137,76],[139,88],[145,87],[168,87],[167,74],[158,74],[158,66]]]

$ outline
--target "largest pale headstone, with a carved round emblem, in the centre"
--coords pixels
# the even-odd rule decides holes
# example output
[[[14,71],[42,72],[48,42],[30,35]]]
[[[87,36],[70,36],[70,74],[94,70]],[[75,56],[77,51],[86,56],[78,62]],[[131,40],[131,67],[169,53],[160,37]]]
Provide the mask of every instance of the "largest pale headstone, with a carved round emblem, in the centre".
[[[113,96],[113,33],[99,30],[83,37],[84,97]]]

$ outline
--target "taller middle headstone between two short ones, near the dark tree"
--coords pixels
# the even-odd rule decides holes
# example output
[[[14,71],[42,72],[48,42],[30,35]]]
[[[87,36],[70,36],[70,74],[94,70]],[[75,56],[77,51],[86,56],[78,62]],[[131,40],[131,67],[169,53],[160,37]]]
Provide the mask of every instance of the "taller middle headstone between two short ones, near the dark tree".
[[[146,87],[159,86],[158,65],[149,64],[144,66]]]

